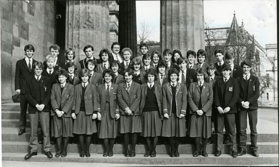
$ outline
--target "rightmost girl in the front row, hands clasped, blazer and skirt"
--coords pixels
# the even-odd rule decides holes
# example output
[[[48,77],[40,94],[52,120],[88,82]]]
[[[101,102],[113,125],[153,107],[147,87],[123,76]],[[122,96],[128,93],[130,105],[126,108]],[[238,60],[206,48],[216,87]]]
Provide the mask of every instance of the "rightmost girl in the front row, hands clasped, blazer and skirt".
[[[189,104],[189,122],[187,134],[195,140],[196,151],[194,157],[200,155],[200,137],[202,137],[203,151],[202,155],[207,157],[206,143],[211,137],[211,113],[213,103],[212,84],[204,81],[207,78],[206,70],[198,68],[195,72],[195,78],[198,81],[191,83],[188,90]]]

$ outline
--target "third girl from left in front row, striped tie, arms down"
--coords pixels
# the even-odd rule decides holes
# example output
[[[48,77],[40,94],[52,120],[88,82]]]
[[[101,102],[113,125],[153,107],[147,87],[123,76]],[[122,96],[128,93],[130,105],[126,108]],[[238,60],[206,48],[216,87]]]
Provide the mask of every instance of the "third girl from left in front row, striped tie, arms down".
[[[103,78],[105,83],[102,83],[97,88],[98,138],[104,139],[104,157],[113,156],[112,148],[117,136],[118,125],[116,120],[120,117],[117,103],[118,85],[111,82],[112,75],[111,69],[104,70]]]

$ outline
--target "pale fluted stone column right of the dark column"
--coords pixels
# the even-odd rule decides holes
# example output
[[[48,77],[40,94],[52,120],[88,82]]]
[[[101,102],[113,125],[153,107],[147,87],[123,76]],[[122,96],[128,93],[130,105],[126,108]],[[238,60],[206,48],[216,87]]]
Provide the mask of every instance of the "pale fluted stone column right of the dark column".
[[[203,1],[162,1],[160,19],[161,50],[205,49]]]

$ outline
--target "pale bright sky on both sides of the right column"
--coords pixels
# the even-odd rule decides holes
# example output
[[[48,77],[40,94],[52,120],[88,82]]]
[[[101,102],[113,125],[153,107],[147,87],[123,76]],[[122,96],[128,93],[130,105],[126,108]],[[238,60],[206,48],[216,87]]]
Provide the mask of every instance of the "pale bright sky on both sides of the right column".
[[[230,27],[235,11],[237,23],[265,48],[277,44],[276,0],[205,0],[204,20],[210,28]],[[137,28],[145,21],[153,28],[151,41],[160,41],[160,1],[136,1]]]

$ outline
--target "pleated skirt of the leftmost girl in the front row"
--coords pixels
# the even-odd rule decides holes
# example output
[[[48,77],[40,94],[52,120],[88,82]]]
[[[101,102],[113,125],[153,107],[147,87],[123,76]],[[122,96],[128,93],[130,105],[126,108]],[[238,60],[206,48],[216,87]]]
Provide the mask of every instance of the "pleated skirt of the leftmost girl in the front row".
[[[51,116],[52,137],[73,137],[73,121],[71,117]]]

